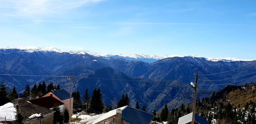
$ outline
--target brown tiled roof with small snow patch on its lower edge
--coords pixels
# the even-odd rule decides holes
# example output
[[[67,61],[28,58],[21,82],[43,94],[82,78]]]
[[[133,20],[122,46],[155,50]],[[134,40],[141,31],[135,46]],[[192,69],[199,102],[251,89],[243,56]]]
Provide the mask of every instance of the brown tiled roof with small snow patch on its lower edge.
[[[14,107],[18,106],[20,113],[22,114],[23,118],[25,119],[33,119],[38,117],[38,115],[45,116],[49,113],[54,113],[55,111],[50,110],[46,107],[42,107],[40,105],[32,104],[24,99],[15,99],[13,101]]]

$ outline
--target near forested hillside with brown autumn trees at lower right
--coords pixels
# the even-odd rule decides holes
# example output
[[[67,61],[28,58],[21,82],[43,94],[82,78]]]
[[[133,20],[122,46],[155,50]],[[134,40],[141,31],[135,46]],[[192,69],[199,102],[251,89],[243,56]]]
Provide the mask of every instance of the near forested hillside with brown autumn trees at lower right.
[[[196,113],[209,124],[256,124],[256,83],[227,85],[211,96],[197,101]],[[192,112],[192,104],[172,109],[167,119],[177,124],[178,118]],[[159,114],[160,116],[160,114]]]

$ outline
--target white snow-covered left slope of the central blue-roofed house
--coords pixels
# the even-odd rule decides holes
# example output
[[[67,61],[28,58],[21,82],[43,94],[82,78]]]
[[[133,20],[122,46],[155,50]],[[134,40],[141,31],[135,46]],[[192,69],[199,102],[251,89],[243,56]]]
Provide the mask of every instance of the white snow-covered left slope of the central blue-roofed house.
[[[119,107],[117,109],[123,110],[123,109],[125,109],[125,107],[127,107],[127,106]],[[116,110],[117,109],[111,110],[108,113],[103,113],[103,114],[99,114],[99,115],[96,115],[96,116],[92,116],[90,118],[87,118],[85,120],[80,121],[80,123],[87,122],[86,124],[96,124],[96,123],[98,123],[98,122],[100,122],[102,120],[105,120],[105,119],[107,119],[107,118],[109,118],[111,116],[116,115]]]

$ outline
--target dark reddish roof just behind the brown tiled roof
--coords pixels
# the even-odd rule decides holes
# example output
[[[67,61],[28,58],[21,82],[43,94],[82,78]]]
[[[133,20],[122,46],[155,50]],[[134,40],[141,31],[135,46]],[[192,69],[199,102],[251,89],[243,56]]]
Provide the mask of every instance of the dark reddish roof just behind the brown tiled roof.
[[[64,104],[63,102],[59,101],[58,99],[52,96],[45,96],[37,99],[32,99],[32,100],[29,100],[29,102],[31,102],[32,104],[40,105],[42,107],[46,107],[46,108],[52,108],[52,107],[56,107]]]

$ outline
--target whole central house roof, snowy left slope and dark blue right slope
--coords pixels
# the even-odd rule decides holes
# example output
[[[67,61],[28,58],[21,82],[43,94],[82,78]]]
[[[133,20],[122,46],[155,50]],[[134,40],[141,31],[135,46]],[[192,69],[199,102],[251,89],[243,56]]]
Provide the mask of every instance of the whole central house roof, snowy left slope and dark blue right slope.
[[[131,124],[149,124],[154,116],[151,113],[147,113],[130,106],[124,106],[124,107],[117,108],[115,110],[111,110],[108,113],[92,116],[90,118],[82,120],[82,122],[87,122],[86,124],[99,123],[100,121],[103,121],[111,116],[115,116],[116,110],[118,109],[122,111],[122,119]]]

